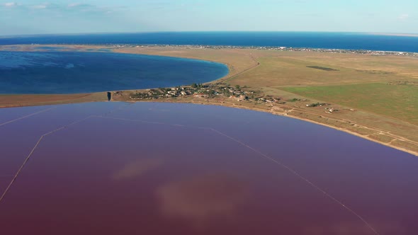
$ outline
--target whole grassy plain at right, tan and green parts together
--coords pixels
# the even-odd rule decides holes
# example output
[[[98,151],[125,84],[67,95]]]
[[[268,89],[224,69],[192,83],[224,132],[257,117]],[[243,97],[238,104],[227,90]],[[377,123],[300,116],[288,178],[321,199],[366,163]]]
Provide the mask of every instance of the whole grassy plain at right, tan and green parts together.
[[[418,124],[418,58],[320,52],[253,53],[260,66],[230,80]],[[283,92],[286,91],[286,92]]]

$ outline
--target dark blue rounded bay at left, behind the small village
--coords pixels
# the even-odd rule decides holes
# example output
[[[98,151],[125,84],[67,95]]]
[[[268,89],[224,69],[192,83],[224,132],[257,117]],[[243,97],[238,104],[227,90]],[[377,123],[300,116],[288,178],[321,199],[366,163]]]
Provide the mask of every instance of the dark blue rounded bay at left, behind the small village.
[[[49,48],[49,47],[48,47]],[[0,52],[0,93],[91,93],[205,83],[224,64],[108,52]]]

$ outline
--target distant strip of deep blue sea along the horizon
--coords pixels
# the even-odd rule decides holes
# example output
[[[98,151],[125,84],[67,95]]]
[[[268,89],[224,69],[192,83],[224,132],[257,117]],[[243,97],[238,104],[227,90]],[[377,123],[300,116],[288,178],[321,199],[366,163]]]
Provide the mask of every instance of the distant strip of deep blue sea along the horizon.
[[[310,47],[418,52],[418,37],[318,32],[166,32],[91,35],[32,35],[0,38],[15,44],[147,44]]]

